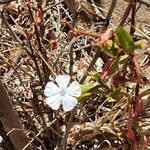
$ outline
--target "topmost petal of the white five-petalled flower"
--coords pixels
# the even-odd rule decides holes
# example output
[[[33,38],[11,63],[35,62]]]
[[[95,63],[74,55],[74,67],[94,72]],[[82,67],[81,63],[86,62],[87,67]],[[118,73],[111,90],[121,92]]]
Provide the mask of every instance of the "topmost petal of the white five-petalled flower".
[[[70,76],[68,75],[58,75],[56,77],[56,82],[61,89],[65,89],[70,81]]]

